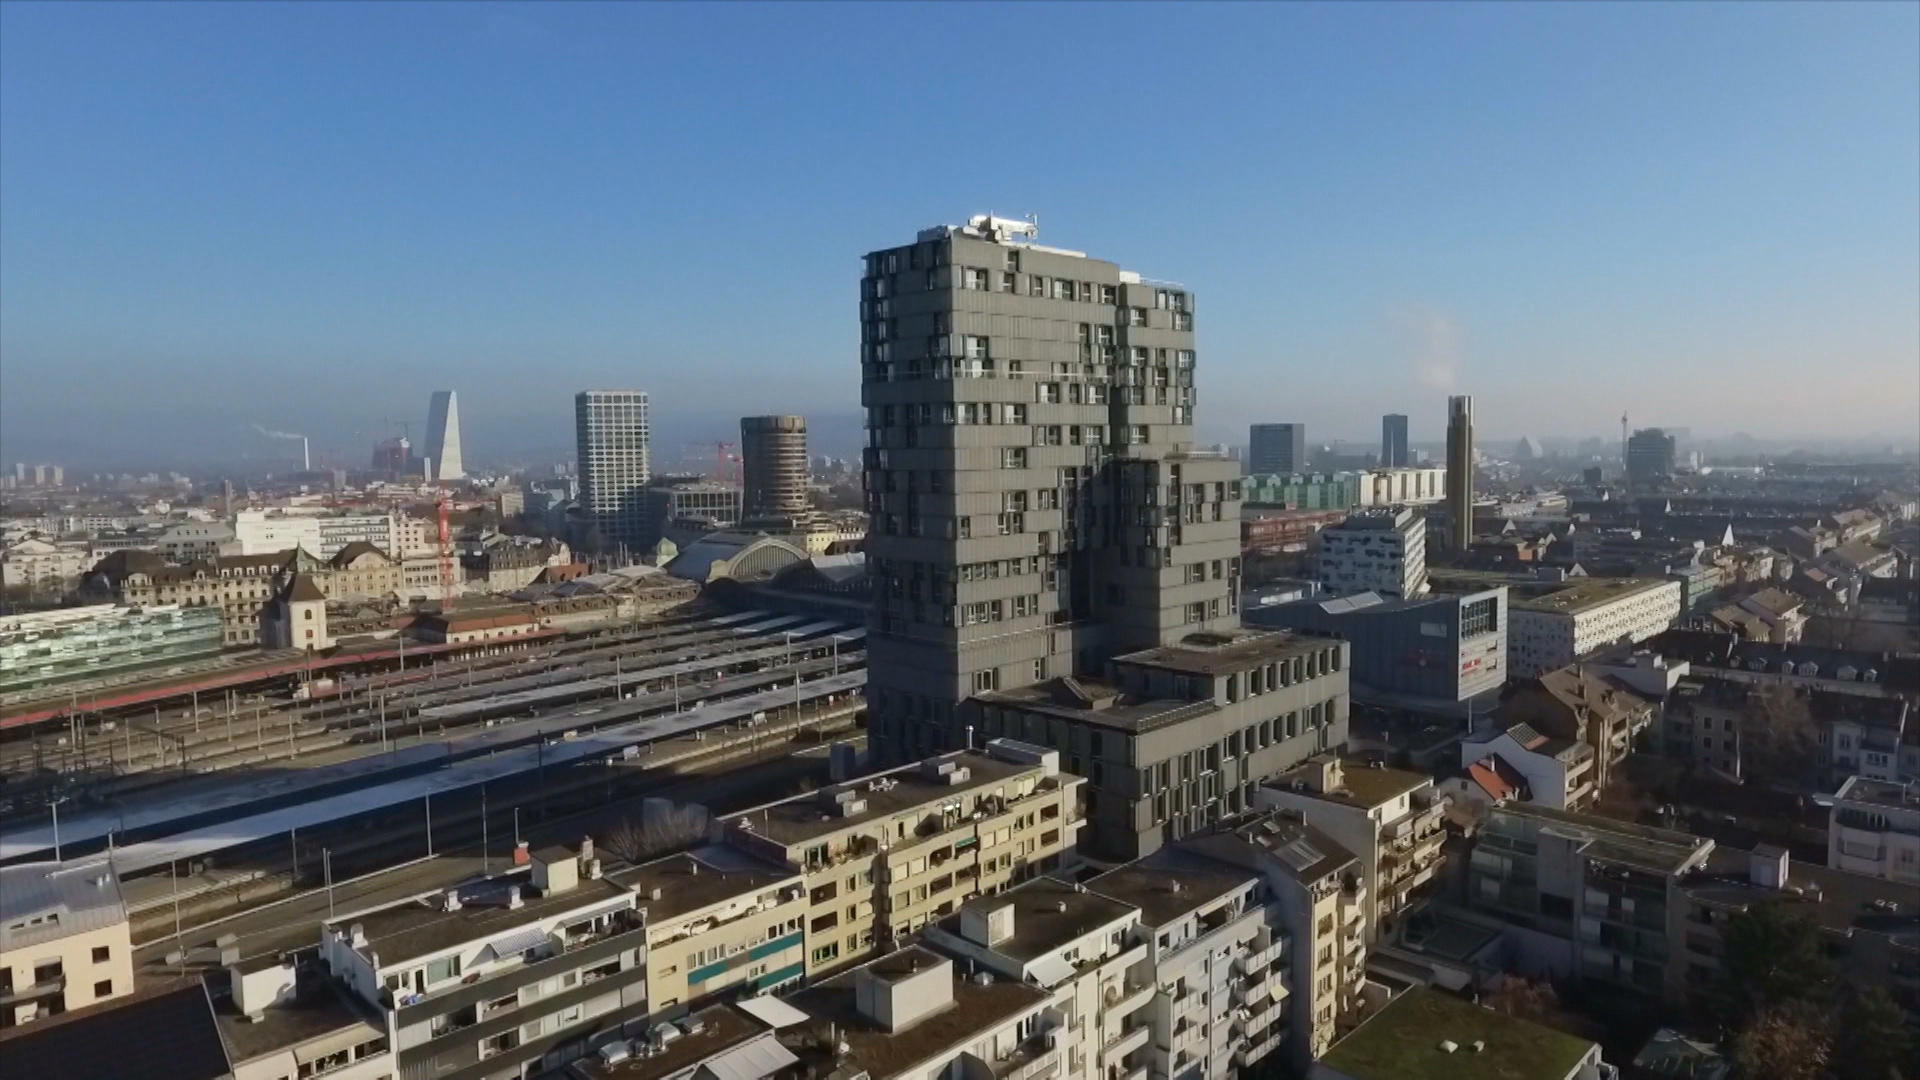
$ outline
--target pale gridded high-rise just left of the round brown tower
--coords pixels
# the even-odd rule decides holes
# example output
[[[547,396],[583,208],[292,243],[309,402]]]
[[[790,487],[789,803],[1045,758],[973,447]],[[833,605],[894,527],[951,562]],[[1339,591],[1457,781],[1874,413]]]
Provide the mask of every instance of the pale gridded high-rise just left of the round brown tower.
[[[574,394],[574,444],[580,454],[580,505],[593,534],[589,548],[626,548],[637,557],[647,544],[647,394],[641,390],[582,390]]]

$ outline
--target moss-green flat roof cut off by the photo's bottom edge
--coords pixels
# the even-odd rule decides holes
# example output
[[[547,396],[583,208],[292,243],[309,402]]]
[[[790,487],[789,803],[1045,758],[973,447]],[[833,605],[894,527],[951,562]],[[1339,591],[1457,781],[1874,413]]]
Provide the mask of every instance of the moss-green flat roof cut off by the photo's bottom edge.
[[[1448,1053],[1442,1042],[1457,1049]],[[1321,1065],[1352,1080],[1567,1080],[1592,1051],[1588,1040],[1415,986],[1334,1043]]]

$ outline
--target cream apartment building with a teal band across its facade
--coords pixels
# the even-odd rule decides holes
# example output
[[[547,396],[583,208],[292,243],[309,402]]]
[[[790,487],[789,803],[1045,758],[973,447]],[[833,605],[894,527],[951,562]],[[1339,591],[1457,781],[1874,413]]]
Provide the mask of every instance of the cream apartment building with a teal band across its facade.
[[[655,1019],[687,1015],[724,990],[770,994],[806,974],[806,884],[793,869],[714,844],[609,878],[639,894]]]

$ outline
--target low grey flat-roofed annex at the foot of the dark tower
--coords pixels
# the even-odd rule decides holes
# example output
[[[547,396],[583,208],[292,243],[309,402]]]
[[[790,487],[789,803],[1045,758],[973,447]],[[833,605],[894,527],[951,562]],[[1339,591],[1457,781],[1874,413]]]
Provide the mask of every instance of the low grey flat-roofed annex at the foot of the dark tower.
[[[1346,742],[1348,646],[1233,630],[1116,657],[1104,676],[977,698],[983,738],[1058,748],[1087,776],[1092,851],[1137,859],[1254,805]]]

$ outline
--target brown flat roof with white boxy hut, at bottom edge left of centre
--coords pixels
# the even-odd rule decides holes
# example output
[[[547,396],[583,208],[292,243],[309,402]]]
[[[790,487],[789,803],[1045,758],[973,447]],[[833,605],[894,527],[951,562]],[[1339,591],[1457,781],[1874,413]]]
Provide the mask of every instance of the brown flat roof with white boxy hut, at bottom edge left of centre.
[[[922,1017],[912,1024],[889,1032],[864,1017],[854,1001],[854,980],[866,970],[893,982],[902,974],[902,963],[922,965],[941,961],[933,953],[908,947],[881,957],[860,969],[837,974],[787,997],[787,1005],[806,1013],[816,1022],[833,1024],[835,1034],[847,1043],[845,1063],[864,1068],[877,1080],[897,1076],[939,1053],[968,1043],[1014,1017],[1037,1009],[1048,1001],[1048,994],[1037,986],[993,978],[979,984],[966,978],[966,972],[952,967],[952,1003]],[[950,961],[948,961],[950,963]]]

